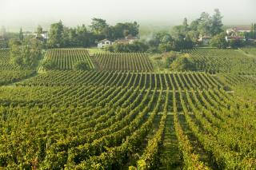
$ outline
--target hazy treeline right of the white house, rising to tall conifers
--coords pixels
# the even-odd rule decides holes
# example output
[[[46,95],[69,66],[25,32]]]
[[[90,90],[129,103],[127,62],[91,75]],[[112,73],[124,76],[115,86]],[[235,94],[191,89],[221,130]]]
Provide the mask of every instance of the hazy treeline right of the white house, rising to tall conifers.
[[[212,37],[223,32],[222,15],[218,9],[214,10],[214,12],[213,16],[203,12],[190,25],[187,19],[184,18],[182,25],[174,26],[171,33],[154,33],[149,40],[141,41],[134,45],[115,44],[106,48],[106,50],[112,52],[133,52],[135,49],[136,52],[164,53],[171,50],[192,49],[196,45],[201,45],[202,42],[198,42],[198,38]]]

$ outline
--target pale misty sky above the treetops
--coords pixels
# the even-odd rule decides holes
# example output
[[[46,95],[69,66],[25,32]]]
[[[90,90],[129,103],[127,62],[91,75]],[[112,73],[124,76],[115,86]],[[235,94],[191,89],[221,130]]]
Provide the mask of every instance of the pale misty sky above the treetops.
[[[256,0],[0,0],[0,26],[27,30],[51,22],[66,26],[90,25],[90,18],[108,23],[137,21],[141,25],[173,26],[218,8],[226,25],[256,22]]]

